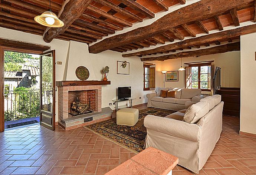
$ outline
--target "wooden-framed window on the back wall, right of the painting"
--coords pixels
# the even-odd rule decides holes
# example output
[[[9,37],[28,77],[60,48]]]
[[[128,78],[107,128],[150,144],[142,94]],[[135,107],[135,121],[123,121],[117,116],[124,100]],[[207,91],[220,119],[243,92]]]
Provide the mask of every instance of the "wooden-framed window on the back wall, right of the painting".
[[[210,84],[210,87],[211,86],[211,82],[212,82],[212,75],[211,75],[211,69],[212,69],[212,65],[211,65],[212,62],[207,62],[207,63],[187,63],[188,64],[188,67],[190,68],[190,82],[191,82],[191,85],[190,85],[190,88],[188,88],[187,86],[187,77],[185,77],[185,87],[186,89],[201,89],[200,88],[200,84],[201,82],[206,82],[206,81],[201,81],[201,74],[208,74],[207,76],[207,85],[208,85],[208,88],[207,89],[201,89],[202,91],[211,91],[211,88],[209,89],[209,84]],[[201,73],[201,67],[202,66],[208,66],[207,68],[207,73]],[[211,67],[210,69],[210,73],[209,73],[209,66]],[[198,73],[197,74],[194,74],[194,75],[198,75],[198,81],[192,81],[192,67],[198,67]],[[187,71],[187,70],[186,70]],[[187,73],[186,73],[187,75]],[[210,79],[209,79],[209,75],[210,75]],[[198,88],[192,88],[192,82],[198,82]]]

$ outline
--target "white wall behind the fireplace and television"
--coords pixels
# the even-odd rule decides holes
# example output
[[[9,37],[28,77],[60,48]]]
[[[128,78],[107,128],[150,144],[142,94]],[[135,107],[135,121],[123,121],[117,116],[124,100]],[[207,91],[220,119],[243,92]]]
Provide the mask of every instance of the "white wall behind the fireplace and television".
[[[119,86],[132,86],[132,97],[136,98],[133,105],[146,103],[146,94],[149,91],[143,91],[143,63],[138,57],[123,58],[121,53],[113,51],[105,51],[99,54],[90,54],[88,45],[85,43],[74,41],[63,41],[53,39],[51,43],[45,43],[42,36],[19,32],[0,27],[0,37],[7,39],[20,40],[24,42],[37,43],[51,46],[56,50],[56,62],[62,62],[62,65],[56,65],[56,81],[61,80],[77,80],[75,70],[78,66],[85,66],[90,72],[88,80],[102,80],[104,77],[101,70],[105,66],[109,66],[110,72],[108,80],[111,85],[102,86],[102,108],[113,103],[112,99],[116,98],[116,88]],[[29,49],[29,48],[28,48]],[[124,61],[130,63],[130,75],[116,74],[116,61]],[[58,96],[58,92],[56,94]],[[141,99],[139,99],[141,97]],[[58,101],[58,99],[56,99]],[[126,102],[123,102],[125,105]],[[114,105],[110,106],[114,109]],[[56,103],[58,109],[58,102]],[[56,110],[56,121],[58,121],[58,110]]]

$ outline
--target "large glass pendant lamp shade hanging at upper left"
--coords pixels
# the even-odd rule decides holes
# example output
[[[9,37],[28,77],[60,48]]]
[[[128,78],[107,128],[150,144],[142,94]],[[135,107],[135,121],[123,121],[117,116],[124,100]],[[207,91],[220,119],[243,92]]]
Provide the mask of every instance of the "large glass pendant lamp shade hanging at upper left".
[[[47,27],[62,27],[64,23],[52,11],[45,11],[41,15],[36,16],[35,21]]]

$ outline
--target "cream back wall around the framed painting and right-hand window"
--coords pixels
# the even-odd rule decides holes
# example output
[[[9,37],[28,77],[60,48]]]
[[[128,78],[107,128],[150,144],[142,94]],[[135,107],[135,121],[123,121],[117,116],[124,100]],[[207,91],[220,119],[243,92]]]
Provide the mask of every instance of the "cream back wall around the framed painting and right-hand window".
[[[214,60],[213,74],[215,67],[221,68],[221,86],[223,87],[240,87],[240,51],[220,53],[214,55],[188,57],[183,58],[184,63],[189,62],[202,62]],[[156,64],[156,86],[163,86],[163,73],[162,70],[172,71],[178,70],[181,66],[181,59],[166,60],[164,62],[154,62]],[[213,76],[212,74],[212,76]],[[165,82],[165,87],[185,87],[185,71],[179,71],[178,82]]]

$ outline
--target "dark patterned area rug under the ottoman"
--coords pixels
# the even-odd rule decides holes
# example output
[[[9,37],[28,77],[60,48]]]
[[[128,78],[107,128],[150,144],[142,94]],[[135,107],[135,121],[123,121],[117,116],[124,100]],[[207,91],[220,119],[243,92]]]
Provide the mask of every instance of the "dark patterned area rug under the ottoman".
[[[174,112],[172,110],[147,108],[139,111],[139,121],[135,126],[116,125],[116,118],[113,118],[84,127],[131,151],[141,152],[144,149],[147,136],[147,129],[143,124],[145,116],[165,117]]]

